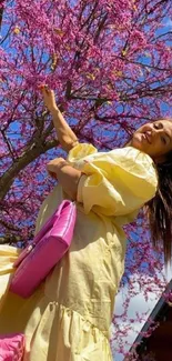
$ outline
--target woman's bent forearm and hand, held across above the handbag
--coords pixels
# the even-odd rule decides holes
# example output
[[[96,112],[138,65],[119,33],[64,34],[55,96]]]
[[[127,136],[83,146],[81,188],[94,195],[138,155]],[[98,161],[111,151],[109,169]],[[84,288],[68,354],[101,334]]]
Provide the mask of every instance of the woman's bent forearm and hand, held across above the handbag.
[[[47,164],[47,170],[58,179],[64,192],[72,199],[77,200],[78,183],[82,176],[81,171],[69,166],[63,158],[55,158]]]

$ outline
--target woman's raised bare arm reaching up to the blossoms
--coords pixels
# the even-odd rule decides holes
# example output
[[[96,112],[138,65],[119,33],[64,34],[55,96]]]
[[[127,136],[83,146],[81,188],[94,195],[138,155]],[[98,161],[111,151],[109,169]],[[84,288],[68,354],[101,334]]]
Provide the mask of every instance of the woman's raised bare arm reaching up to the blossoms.
[[[57,131],[58,139],[60,141],[61,147],[63,150],[69,152],[74,146],[78,143],[77,136],[72,131],[72,129],[67,123],[65,119],[63,118],[61,111],[59,110],[53,90],[50,90],[48,87],[41,87],[44,104],[49,109],[50,113],[52,114],[53,124]]]

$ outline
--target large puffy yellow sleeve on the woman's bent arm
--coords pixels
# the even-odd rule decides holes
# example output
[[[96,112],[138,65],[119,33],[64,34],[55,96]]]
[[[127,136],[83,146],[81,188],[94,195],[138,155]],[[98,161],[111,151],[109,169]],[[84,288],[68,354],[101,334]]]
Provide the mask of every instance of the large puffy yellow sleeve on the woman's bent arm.
[[[154,197],[158,178],[151,158],[127,147],[92,153],[82,163],[78,201],[84,212],[124,215],[139,210]]]

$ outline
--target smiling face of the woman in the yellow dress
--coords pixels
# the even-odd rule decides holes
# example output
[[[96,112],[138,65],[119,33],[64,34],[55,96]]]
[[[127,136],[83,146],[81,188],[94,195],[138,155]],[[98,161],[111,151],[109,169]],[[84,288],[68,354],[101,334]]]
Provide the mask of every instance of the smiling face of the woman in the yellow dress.
[[[139,128],[130,144],[149,154],[155,162],[164,162],[172,151],[172,121],[158,120]]]

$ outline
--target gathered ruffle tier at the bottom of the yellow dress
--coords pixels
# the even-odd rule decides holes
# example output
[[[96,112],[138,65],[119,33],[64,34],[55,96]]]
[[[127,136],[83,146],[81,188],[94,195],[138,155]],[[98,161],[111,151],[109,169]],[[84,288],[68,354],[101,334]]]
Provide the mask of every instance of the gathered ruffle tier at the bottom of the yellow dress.
[[[37,304],[32,320],[36,324],[28,322],[26,328],[31,349],[27,350],[24,361],[38,360],[38,350],[39,360],[112,360],[109,340],[78,312],[43,298]]]

